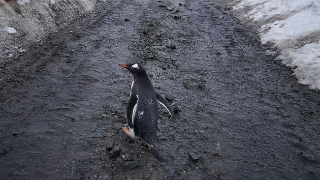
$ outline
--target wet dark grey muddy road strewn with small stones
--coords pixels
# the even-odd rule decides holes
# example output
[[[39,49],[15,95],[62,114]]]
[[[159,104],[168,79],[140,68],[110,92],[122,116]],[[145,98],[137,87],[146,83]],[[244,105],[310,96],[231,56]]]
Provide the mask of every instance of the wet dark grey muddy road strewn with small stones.
[[[174,9],[99,3],[1,64],[1,180],[319,179],[319,92],[297,84],[223,6],[160,3]],[[160,107],[164,163],[119,129],[132,75],[118,64],[128,62],[176,104],[175,119]]]

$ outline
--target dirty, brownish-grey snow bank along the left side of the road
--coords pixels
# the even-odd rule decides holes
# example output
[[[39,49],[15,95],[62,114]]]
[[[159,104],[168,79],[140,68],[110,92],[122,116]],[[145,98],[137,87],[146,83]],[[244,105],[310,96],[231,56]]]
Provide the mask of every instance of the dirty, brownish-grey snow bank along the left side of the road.
[[[94,9],[96,0],[0,0],[0,63]]]

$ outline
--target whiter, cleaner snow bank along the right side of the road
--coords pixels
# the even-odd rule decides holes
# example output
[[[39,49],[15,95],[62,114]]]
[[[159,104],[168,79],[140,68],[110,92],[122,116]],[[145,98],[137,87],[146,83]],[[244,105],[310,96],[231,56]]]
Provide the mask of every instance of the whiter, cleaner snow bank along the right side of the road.
[[[221,1],[222,3],[225,3]],[[320,0],[229,0],[242,23],[293,67],[298,82],[320,90]]]

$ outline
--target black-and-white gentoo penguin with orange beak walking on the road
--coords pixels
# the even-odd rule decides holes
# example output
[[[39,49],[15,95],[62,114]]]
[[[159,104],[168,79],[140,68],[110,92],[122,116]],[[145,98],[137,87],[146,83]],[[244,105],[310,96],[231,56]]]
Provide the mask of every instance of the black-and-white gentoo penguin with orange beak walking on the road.
[[[173,111],[165,99],[154,90],[146,71],[140,64],[119,64],[134,76],[127,105],[128,127],[123,130],[131,138],[140,137],[148,145],[152,155],[163,161],[155,147],[158,123],[158,102],[173,117]],[[158,102],[157,102],[158,101]]]

